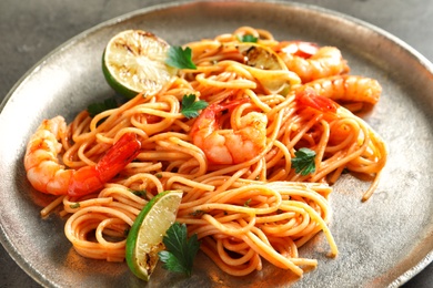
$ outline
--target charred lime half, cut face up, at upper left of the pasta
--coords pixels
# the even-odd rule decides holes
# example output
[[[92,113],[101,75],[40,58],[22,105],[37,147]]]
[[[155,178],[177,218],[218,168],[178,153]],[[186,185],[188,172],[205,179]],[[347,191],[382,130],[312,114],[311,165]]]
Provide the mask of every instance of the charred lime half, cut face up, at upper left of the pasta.
[[[170,45],[142,30],[125,30],[114,35],[102,55],[102,72],[114,91],[133,97],[155,94],[177,73],[165,60]]]

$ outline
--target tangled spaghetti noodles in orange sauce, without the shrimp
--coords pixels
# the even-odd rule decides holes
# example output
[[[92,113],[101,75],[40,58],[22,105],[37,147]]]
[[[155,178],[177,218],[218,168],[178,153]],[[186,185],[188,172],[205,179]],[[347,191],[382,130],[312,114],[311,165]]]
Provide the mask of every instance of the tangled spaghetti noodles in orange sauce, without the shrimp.
[[[259,41],[242,43],[243,35]],[[62,161],[70,168],[95,165],[125,133],[139,136],[141,150],[102,191],[61,196],[42,214],[61,205],[68,216],[66,236],[80,255],[122,261],[128,229],[145,203],[163,191],[181,189],[177,220],[198,235],[202,251],[226,274],[249,275],[262,269],[265,259],[302,276],[304,267],[318,263],[302,258],[299,248],[321,232],[330,256],[336,256],[328,227],[330,185],[345,171],[372,176],[363,196],[367,199],[386,162],[381,137],[343,106],[349,102],[348,107],[360,107],[362,99],[348,96],[329,107],[314,96],[308,104],[302,99],[304,76],[288,69],[290,59],[283,51],[289,42],[276,41],[269,31],[242,27],[185,45],[192,49],[197,70],[182,70],[155,95],[139,94],[92,119],[82,111],[68,125],[61,144]],[[251,48],[259,52],[255,63],[250,63]],[[263,55],[274,60],[268,63]],[[323,69],[329,62],[335,65],[326,59],[315,61],[323,61]],[[348,72],[345,61],[338,62],[342,69],[332,69],[336,76]],[[268,64],[276,66],[263,69]],[[315,72],[310,73],[314,78]],[[323,73],[320,79],[326,78]],[[210,104],[205,111],[215,109],[219,131],[195,130],[203,119],[181,113],[182,97],[191,94]],[[241,142],[230,142],[234,136]],[[211,161],[214,146],[207,145],[207,137],[234,143],[236,155],[219,163],[221,155],[215,153]],[[213,138],[209,143],[218,145]],[[292,164],[302,147],[315,152],[315,171],[306,175]]]

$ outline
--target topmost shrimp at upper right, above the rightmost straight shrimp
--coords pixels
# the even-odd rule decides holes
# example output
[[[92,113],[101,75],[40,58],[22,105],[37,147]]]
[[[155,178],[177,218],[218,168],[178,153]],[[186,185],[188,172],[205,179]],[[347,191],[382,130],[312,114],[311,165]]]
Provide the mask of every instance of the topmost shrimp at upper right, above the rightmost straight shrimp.
[[[295,72],[302,83],[344,74],[350,70],[335,47],[319,48],[314,43],[293,41],[282,42],[275,49],[288,69]]]

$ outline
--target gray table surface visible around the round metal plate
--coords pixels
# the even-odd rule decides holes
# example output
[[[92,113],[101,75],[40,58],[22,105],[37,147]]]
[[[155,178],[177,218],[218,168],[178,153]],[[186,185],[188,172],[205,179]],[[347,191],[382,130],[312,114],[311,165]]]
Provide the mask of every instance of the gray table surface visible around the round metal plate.
[[[41,58],[75,34],[123,13],[173,0],[0,0],[0,101]],[[301,0],[300,0],[301,2]],[[305,0],[394,34],[433,61],[431,0]],[[0,245],[0,287],[39,287]],[[433,264],[404,285],[433,287]]]

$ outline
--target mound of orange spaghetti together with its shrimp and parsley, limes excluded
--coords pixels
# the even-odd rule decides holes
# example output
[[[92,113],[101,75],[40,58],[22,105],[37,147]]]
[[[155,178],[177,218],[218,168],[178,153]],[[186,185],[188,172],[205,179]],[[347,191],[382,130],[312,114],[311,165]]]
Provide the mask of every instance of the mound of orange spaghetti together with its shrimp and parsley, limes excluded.
[[[374,109],[381,85],[351,74],[335,47],[251,27],[209,37],[173,50],[191,53],[188,65],[160,60],[148,89],[124,101],[83,107],[70,123],[44,120],[27,146],[27,177],[56,195],[42,216],[64,217],[83,257],[123,261],[140,210],[180,191],[175,222],[222,271],[244,276],[269,263],[301,277],[318,265],[300,250],[315,235],[338,255],[332,185],[346,173],[367,178],[362,205],[379,183],[386,145],[358,115]]]

